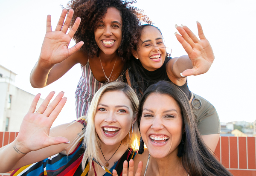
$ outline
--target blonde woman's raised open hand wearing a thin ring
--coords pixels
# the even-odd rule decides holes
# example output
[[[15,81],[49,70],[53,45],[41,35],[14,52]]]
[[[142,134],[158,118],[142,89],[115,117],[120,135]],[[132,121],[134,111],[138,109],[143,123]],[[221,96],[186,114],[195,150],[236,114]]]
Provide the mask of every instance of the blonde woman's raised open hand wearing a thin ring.
[[[18,148],[22,148],[23,153],[39,150],[50,145],[69,143],[64,137],[50,137],[49,131],[53,121],[61,112],[67,98],[63,97],[64,92],[60,92],[49,104],[55,92],[50,92],[38,110],[35,112],[40,94],[36,95],[28,113],[23,118],[20,132],[16,138]],[[49,104],[49,106],[48,106]],[[48,107],[47,107],[48,106]]]

